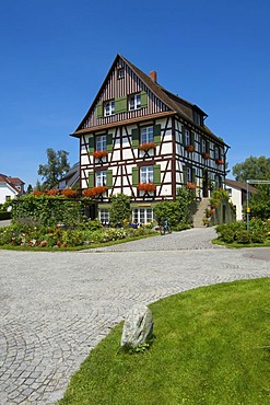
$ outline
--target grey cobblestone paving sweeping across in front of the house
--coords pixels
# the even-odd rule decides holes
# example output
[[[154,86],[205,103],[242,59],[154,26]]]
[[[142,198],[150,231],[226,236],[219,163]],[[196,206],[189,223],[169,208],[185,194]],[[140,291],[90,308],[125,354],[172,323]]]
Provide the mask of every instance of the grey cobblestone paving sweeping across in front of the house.
[[[136,302],[270,276],[270,248],[212,245],[193,229],[81,252],[0,251],[0,404],[56,404]]]

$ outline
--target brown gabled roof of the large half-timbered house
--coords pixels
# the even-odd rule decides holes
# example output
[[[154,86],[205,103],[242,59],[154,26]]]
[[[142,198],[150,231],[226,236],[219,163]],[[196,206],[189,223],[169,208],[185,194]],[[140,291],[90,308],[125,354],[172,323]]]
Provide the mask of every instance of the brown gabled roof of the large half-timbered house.
[[[168,90],[164,89],[162,85],[160,85],[157,82],[153,81],[148,74],[145,74],[142,70],[140,70],[137,66],[131,63],[128,59],[126,59],[120,54],[118,54],[116,56],[109,71],[108,71],[108,73],[107,73],[107,76],[106,76],[106,78],[105,78],[105,80],[104,80],[104,82],[103,82],[103,84],[99,89],[99,91],[96,94],[96,97],[94,99],[90,109],[87,111],[84,118],[80,123],[75,132],[81,130],[82,124],[87,118],[87,116],[92,113],[92,111],[95,108],[95,106],[96,106],[96,104],[97,104],[97,102],[101,97],[101,94],[104,91],[104,88],[105,88],[107,81],[109,80],[109,77],[110,77],[111,72],[114,71],[114,69],[116,68],[116,66],[117,66],[117,63],[120,59],[124,60],[127,63],[127,66],[138,76],[138,78],[149,88],[149,90],[157,99],[160,99],[168,107],[168,109],[172,111],[172,114],[175,113],[175,114],[179,115],[180,117],[183,117],[184,119],[186,119],[187,121],[192,124],[198,129],[200,129],[200,130],[203,129],[203,131],[207,132],[208,135],[210,135],[212,138],[214,138],[219,142],[228,147],[221,138],[216,137],[206,125],[203,125],[203,127],[201,127],[201,126],[197,125],[193,121],[193,119],[192,119],[192,111],[193,109],[199,112],[203,117],[208,116],[201,108],[199,108],[196,104],[189,103],[188,101],[186,101],[186,100],[179,97],[178,95],[173,94]]]

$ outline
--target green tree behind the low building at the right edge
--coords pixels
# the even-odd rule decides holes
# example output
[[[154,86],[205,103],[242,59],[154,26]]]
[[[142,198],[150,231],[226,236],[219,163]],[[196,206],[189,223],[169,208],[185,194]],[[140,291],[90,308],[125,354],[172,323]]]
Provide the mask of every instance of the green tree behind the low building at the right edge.
[[[237,182],[245,183],[247,178],[269,180],[270,178],[270,158],[249,157],[243,163],[233,166],[233,175]]]

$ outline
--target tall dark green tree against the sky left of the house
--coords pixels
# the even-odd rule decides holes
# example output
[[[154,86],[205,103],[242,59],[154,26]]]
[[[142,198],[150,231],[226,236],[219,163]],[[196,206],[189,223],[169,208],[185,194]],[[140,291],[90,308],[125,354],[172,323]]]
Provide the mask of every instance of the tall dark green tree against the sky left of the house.
[[[64,150],[55,151],[48,148],[47,164],[39,164],[37,174],[42,176],[43,189],[50,189],[58,187],[59,180],[69,171],[70,164],[68,163],[68,152]]]

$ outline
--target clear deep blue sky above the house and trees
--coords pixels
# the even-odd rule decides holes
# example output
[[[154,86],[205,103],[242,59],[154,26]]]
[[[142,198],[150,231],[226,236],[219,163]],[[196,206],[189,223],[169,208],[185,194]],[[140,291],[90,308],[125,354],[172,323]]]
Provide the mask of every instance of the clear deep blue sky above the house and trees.
[[[268,0],[1,0],[0,173],[26,186],[70,137],[116,54],[199,105],[232,167],[269,158]],[[230,175],[232,177],[232,172]]]

